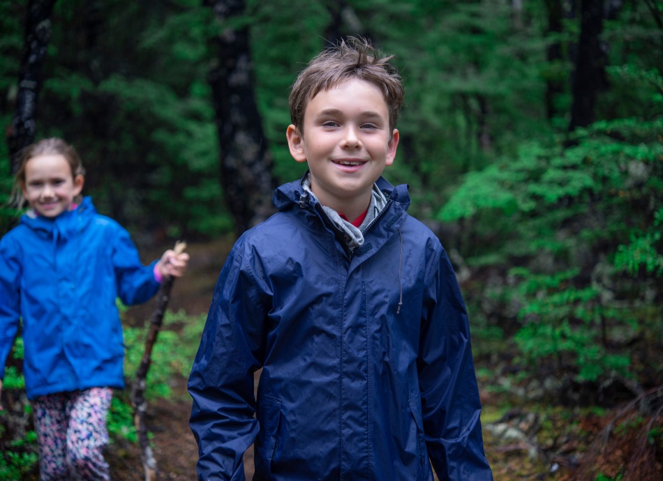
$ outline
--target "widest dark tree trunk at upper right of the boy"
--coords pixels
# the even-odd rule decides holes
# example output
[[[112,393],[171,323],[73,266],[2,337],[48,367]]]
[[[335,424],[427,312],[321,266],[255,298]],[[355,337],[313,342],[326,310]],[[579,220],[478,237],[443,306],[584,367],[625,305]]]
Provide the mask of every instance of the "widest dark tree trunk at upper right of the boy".
[[[569,132],[594,121],[597,93],[606,87],[605,55],[600,43],[603,15],[603,0],[582,0]]]

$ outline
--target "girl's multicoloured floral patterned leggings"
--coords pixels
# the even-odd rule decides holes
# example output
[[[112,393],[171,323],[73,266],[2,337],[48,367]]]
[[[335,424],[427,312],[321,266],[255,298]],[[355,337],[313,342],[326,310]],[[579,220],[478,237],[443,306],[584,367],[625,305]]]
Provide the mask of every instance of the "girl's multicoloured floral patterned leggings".
[[[108,481],[103,449],[111,388],[57,392],[33,399],[41,481]]]

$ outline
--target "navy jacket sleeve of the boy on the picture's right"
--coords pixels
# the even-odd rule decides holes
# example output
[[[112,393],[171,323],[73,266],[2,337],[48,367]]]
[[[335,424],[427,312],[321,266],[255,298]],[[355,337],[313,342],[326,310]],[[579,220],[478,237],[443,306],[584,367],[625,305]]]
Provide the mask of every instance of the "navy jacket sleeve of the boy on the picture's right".
[[[492,480],[479,420],[468,314],[441,247],[426,275],[419,349],[426,448],[440,481]]]

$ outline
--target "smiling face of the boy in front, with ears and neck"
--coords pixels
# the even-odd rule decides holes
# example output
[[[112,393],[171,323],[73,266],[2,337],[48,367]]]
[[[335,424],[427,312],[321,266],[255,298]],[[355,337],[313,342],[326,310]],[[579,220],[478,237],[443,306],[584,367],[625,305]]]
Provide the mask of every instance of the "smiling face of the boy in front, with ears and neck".
[[[306,106],[303,130],[288,127],[292,157],[308,162],[318,200],[352,220],[354,211],[366,210],[373,183],[396,155],[398,130],[389,130],[385,96],[360,79],[320,91]]]

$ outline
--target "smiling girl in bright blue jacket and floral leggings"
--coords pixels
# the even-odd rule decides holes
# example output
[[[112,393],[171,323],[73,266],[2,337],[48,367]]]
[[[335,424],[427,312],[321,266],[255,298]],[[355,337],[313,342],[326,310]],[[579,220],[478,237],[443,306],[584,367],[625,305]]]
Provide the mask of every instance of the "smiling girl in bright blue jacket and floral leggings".
[[[73,146],[44,139],[25,148],[15,192],[30,208],[0,239],[0,390],[22,319],[41,480],[110,479],[106,415],[112,388],[124,388],[116,298],[143,303],[188,262],[167,250],[143,266],[128,232],[81,198],[83,183]]]

